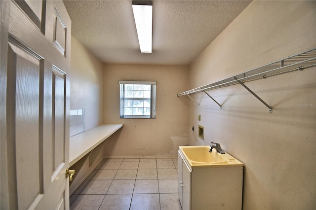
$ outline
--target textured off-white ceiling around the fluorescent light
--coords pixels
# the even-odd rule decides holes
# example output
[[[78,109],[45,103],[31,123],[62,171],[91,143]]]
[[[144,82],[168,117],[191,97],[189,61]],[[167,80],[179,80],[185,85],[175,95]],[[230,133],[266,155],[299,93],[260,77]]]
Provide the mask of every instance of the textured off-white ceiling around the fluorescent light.
[[[250,3],[153,0],[153,53],[140,53],[131,0],[64,0],[72,35],[108,64],[191,63]]]

